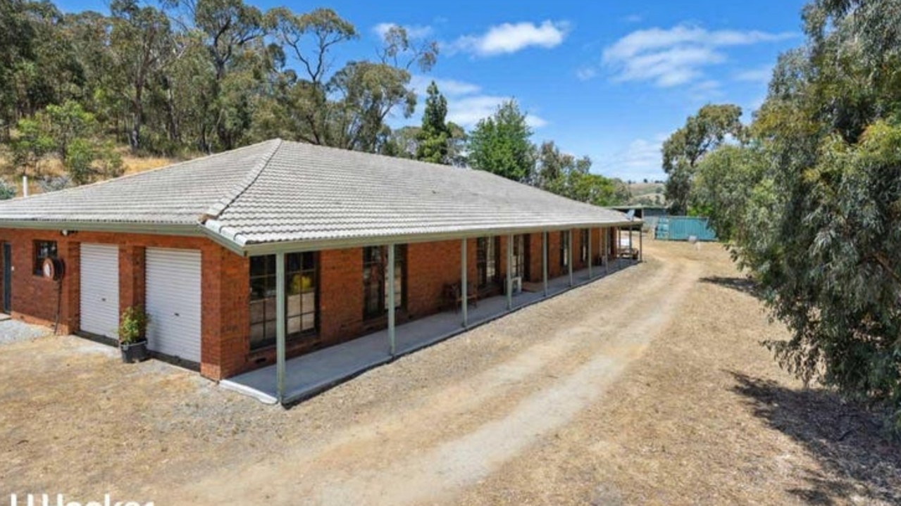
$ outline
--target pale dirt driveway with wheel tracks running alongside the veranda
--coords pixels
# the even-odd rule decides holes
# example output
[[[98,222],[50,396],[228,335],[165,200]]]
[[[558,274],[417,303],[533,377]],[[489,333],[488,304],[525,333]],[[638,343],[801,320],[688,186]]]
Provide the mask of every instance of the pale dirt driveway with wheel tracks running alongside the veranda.
[[[428,402],[312,447],[287,448],[262,462],[222,469],[175,496],[194,503],[253,502],[266,490],[267,500],[276,504],[449,499],[597,402],[666,327],[697,278],[697,268],[684,263],[636,268],[650,277],[612,304],[593,306],[585,297],[613,279],[544,303],[551,309],[556,304],[569,310],[565,304],[571,303],[586,307],[566,311],[571,320],[512,359],[424,390]],[[521,312],[507,318],[535,317]]]

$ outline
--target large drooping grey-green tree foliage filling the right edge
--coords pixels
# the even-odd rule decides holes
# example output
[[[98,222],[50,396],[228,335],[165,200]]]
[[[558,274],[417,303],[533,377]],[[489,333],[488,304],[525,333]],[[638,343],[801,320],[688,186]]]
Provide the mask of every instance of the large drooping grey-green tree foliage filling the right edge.
[[[901,4],[819,0],[778,60],[746,147],[697,166],[693,198],[791,330],[805,381],[884,407],[901,434]]]

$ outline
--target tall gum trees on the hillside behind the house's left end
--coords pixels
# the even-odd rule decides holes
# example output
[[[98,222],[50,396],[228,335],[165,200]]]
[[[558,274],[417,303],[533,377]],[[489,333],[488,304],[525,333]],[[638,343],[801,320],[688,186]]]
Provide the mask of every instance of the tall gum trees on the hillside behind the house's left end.
[[[373,59],[332,68],[334,51],[358,33],[331,9],[161,5],[114,0],[104,15],[0,4],[0,142],[48,107],[77,104],[96,119],[97,137],[137,154],[191,155],[273,137],[378,151],[387,115],[414,111],[411,68],[427,71],[438,55],[436,44],[396,26]],[[65,160],[68,140],[54,137]],[[28,149],[40,145],[23,145],[23,156]],[[77,158],[73,167],[84,167]]]

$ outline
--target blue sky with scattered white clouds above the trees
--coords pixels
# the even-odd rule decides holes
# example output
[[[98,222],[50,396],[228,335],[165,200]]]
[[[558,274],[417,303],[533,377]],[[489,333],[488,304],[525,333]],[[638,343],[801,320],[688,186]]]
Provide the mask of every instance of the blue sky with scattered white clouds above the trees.
[[[283,5],[245,0],[262,9]],[[360,33],[337,59],[373,58],[387,24],[438,41],[441,55],[414,76],[435,79],[449,119],[468,129],[514,97],[535,142],[588,155],[605,176],[662,179],[660,142],[706,103],[760,105],[784,50],[803,43],[801,0],[722,2],[359,2],[288,4],[334,9]],[[58,0],[64,11],[107,12],[103,0]],[[420,103],[422,103],[422,96]],[[418,124],[422,105],[410,119]]]

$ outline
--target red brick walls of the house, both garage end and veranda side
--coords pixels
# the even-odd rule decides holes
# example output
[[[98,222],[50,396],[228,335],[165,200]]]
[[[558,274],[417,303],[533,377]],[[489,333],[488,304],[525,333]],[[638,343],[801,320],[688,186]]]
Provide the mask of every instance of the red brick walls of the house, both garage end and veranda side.
[[[146,248],[194,248],[202,255],[202,346],[201,374],[221,379],[239,374],[275,360],[275,349],[250,351],[249,266],[247,258],[215,244],[209,239],[153,234],[114,234],[79,231],[63,237],[59,230],[0,229],[0,240],[12,244],[13,316],[24,321],[52,324],[56,317],[57,284],[32,274],[34,240],[56,240],[59,258],[67,267],[61,284],[59,332],[79,329],[79,245],[82,242],[119,246],[120,309],[145,301],[144,277]],[[574,260],[578,262],[579,233],[573,233]],[[601,252],[601,232],[592,230],[592,252]],[[607,244],[611,241],[608,240]],[[498,248],[498,273],[504,279],[506,237]],[[532,280],[542,279],[542,234],[530,239]],[[476,283],[476,239],[467,240],[469,281]],[[548,267],[550,276],[566,274],[560,268],[560,232],[549,234]],[[319,331],[313,339],[288,343],[289,357],[314,348],[323,348],[359,337],[384,322],[363,321],[362,250],[349,248],[321,251],[319,264]],[[460,240],[414,243],[407,246],[407,300],[399,321],[421,318],[440,312],[444,285],[460,282]],[[579,265],[579,264],[576,264]],[[0,279],[2,284],[2,279]],[[0,286],[2,288],[2,286]]]

